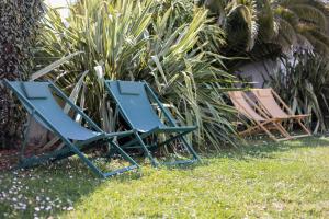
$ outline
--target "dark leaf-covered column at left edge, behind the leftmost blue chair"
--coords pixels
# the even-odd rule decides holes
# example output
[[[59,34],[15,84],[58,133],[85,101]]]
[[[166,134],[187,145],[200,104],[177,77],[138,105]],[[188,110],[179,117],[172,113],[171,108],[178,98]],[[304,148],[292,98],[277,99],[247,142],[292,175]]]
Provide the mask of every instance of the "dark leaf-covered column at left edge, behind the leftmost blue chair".
[[[22,79],[30,69],[31,46],[42,13],[42,0],[0,2],[0,80]],[[10,92],[0,83],[0,148],[16,145],[22,120]]]

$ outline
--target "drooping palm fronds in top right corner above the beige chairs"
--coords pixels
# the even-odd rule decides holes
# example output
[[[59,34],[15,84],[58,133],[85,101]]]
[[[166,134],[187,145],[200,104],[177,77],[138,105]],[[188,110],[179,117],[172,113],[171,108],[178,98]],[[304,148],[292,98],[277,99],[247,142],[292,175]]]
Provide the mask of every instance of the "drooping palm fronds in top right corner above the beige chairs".
[[[226,32],[218,50],[254,59],[293,48],[329,55],[329,8],[320,0],[200,0]]]

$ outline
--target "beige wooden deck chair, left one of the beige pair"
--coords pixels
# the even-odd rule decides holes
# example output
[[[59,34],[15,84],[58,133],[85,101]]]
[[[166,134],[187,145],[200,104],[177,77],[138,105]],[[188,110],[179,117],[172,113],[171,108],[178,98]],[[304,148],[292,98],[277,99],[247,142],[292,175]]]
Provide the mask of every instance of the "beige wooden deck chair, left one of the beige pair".
[[[228,95],[238,113],[246,116],[254,124],[246,130],[240,131],[240,136],[263,131],[274,141],[292,139],[290,134],[281,126],[281,120],[276,118],[269,118],[269,116],[262,113],[261,108],[259,108],[256,103],[246,95],[246,93],[242,91],[230,91],[228,92]],[[282,136],[284,136],[284,138],[276,138],[270,131],[271,129],[277,130]]]

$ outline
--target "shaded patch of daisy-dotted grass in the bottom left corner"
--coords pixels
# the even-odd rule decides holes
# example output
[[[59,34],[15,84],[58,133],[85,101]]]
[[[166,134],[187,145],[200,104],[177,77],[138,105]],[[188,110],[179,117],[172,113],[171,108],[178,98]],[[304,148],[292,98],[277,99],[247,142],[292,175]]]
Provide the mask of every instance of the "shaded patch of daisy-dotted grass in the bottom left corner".
[[[133,182],[141,174],[140,171],[131,171],[106,180],[99,178],[77,157],[25,170],[2,171],[0,192],[4,194],[0,193],[0,218],[57,217],[103,184]],[[21,208],[21,204],[25,208]]]

